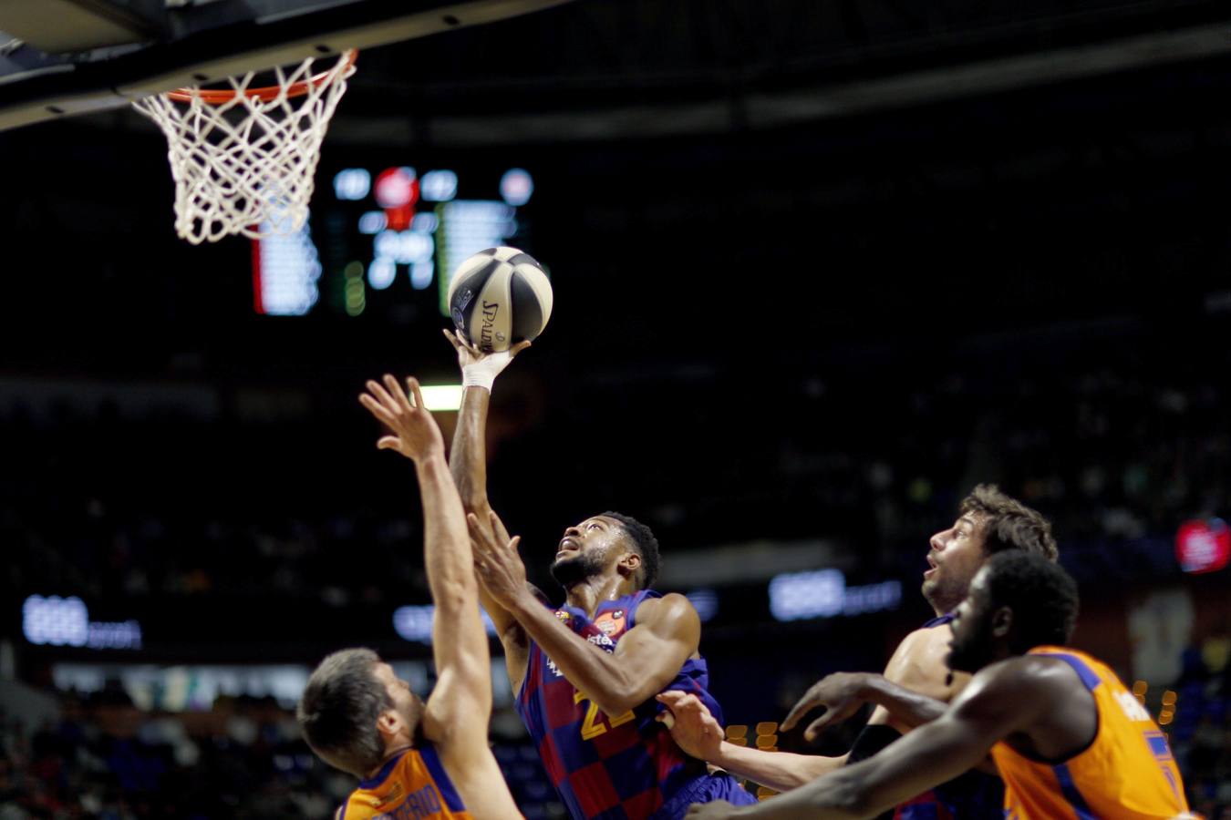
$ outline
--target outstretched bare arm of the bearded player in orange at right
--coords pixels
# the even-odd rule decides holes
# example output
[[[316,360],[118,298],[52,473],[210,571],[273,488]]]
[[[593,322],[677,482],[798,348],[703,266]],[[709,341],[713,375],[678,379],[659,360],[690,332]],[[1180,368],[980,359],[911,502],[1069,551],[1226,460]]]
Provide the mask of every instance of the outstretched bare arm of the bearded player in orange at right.
[[[843,766],[756,806],[694,805],[688,818],[874,818],[970,770],[997,740],[1028,730],[1050,708],[1051,693],[1040,693],[1033,676],[1014,666],[1007,661],[980,672],[943,716],[860,763]]]

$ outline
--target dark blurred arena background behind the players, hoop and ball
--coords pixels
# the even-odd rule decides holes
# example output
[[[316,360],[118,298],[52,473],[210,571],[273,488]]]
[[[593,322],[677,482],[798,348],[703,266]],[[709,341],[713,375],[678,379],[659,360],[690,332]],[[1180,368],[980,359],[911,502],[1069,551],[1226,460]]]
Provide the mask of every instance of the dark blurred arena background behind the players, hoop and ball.
[[[487,441],[553,600],[564,527],[636,516],[726,722],[776,723],[931,617],[993,482],[1231,816],[1226,4],[576,0],[357,66],[260,243],[176,237],[132,109],[0,132],[0,818],[330,816],[311,668],[433,682],[414,471],[356,398],[459,384],[441,280],[492,245],[555,294]],[[492,650],[497,760],[564,816]]]

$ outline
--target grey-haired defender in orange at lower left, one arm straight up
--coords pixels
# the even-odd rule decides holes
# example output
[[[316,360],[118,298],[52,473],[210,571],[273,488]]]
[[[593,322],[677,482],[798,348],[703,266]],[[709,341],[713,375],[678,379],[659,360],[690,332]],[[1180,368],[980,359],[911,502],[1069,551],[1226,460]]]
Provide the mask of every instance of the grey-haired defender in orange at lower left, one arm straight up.
[[[437,682],[427,703],[369,649],[343,649],[321,661],[299,701],[308,745],[359,787],[337,820],[506,820],[519,818],[487,747],[491,660],[479,616],[474,558],[462,500],[444,461],[444,440],[393,376],[359,397],[389,428],[377,441],[415,462],[423,503],[423,557],[436,602],[432,652]]]

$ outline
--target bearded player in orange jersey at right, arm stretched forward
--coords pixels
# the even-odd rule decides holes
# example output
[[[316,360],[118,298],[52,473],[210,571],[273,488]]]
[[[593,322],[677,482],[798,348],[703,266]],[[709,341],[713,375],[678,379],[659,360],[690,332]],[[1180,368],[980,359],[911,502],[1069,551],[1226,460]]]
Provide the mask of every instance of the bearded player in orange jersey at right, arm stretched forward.
[[[694,805],[688,816],[873,818],[988,754],[1013,820],[1187,815],[1158,727],[1107,666],[1064,647],[1077,617],[1077,585],[1064,569],[1038,556],[995,556],[956,616],[948,664],[976,674],[937,719],[760,805]]]

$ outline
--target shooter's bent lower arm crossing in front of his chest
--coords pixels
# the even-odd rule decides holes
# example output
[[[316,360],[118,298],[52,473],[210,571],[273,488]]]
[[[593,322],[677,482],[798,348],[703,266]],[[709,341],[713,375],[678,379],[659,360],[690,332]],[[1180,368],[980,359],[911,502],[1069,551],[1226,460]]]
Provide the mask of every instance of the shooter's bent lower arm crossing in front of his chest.
[[[683,595],[644,601],[636,626],[616,644],[614,653],[590,643],[543,606],[526,585],[526,566],[517,538],[492,537],[469,516],[479,577],[487,591],[522,625],[555,661],[564,676],[608,717],[620,716],[662,691],[700,643],[700,618]],[[499,524],[492,516],[491,524]]]

